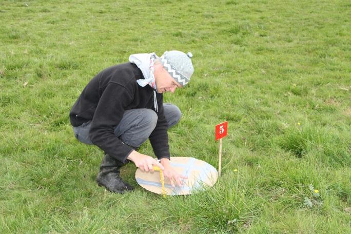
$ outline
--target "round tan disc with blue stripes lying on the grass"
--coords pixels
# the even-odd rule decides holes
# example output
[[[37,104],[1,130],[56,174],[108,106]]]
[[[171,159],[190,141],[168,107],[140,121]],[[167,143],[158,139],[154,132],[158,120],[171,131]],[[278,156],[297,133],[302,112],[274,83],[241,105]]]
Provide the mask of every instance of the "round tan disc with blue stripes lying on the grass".
[[[188,177],[183,185],[173,188],[168,178],[165,178],[165,190],[167,195],[186,195],[192,192],[211,187],[216,183],[218,172],[212,165],[198,159],[188,157],[171,157],[171,166],[181,175]],[[139,168],[135,172],[135,180],[140,186],[148,191],[162,194],[160,172],[145,172]],[[176,184],[176,183],[174,183]]]

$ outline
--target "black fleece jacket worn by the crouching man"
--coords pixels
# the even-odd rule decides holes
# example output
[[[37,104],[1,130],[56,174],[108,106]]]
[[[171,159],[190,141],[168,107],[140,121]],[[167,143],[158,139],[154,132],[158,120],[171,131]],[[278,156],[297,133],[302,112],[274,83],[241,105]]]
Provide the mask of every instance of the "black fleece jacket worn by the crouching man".
[[[122,163],[126,162],[133,149],[114,135],[114,127],[122,120],[125,110],[154,110],[154,89],[149,85],[139,86],[136,83],[139,79],[144,79],[144,76],[135,64],[125,63],[106,68],[88,83],[69,113],[72,126],[92,121],[89,132],[91,142]],[[158,159],[169,159],[162,94],[157,93],[157,102],[158,121],[149,140]]]

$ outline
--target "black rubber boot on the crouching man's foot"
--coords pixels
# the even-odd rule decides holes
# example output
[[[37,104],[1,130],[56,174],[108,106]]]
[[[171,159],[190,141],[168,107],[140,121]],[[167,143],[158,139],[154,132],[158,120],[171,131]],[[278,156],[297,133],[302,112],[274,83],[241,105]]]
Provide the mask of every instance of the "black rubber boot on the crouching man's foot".
[[[124,191],[133,190],[134,188],[128,183],[123,182],[120,177],[120,168],[123,165],[123,163],[115,160],[106,153],[101,162],[99,174],[96,177],[97,184],[104,186],[111,192],[123,193]]]

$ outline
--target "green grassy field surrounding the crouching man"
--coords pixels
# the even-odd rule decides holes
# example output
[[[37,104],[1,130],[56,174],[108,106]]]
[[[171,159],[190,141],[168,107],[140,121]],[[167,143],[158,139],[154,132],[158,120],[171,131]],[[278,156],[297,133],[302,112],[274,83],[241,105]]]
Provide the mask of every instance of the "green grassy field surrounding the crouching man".
[[[351,233],[348,1],[1,1],[1,233]],[[98,187],[103,152],[68,113],[100,70],[132,53],[191,51],[174,157],[222,177],[162,198],[122,177]],[[140,152],[153,155],[146,143]]]

